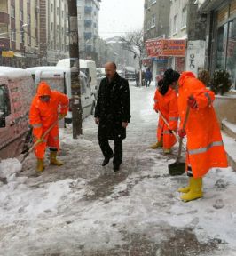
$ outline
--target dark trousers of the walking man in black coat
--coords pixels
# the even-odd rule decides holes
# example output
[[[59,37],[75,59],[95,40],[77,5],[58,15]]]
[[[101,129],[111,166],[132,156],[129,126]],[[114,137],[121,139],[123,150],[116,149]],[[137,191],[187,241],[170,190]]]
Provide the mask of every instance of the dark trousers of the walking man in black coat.
[[[113,149],[110,147],[109,141],[106,138],[99,138],[98,142],[105,158],[113,155]],[[114,140],[114,165],[119,166],[122,164],[122,151],[122,140]]]

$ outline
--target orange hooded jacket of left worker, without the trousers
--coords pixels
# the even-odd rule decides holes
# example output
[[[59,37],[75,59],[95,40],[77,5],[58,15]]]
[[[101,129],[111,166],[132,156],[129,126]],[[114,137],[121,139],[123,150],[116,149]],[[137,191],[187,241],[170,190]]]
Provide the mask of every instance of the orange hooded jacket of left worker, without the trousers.
[[[49,102],[43,102],[40,96],[50,96]],[[38,85],[37,94],[32,101],[29,122],[33,126],[33,134],[37,139],[41,138],[51,124],[59,119],[60,114],[67,114],[69,100],[67,95],[51,91],[50,86],[45,82]]]

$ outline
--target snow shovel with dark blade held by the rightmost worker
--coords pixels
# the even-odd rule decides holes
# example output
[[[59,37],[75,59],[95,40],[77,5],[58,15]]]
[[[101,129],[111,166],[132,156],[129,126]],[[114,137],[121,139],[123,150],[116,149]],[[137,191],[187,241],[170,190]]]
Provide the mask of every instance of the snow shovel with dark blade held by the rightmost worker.
[[[183,129],[185,129],[187,119],[188,119],[188,116],[189,116],[189,111],[190,111],[190,107],[187,106],[187,111],[186,111],[186,115],[185,115],[185,121],[184,121],[184,124],[183,124]],[[185,173],[185,163],[180,162],[182,145],[183,145],[183,138],[180,138],[178,143],[179,143],[179,147],[178,147],[178,152],[177,152],[177,161],[173,164],[168,165],[169,175],[171,175],[171,176],[182,175],[182,174]]]

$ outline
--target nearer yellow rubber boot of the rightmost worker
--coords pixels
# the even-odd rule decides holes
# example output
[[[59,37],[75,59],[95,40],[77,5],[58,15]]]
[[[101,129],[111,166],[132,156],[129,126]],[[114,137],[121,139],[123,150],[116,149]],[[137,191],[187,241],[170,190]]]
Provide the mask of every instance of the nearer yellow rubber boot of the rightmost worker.
[[[202,193],[202,178],[193,178],[191,181],[191,187],[190,190],[185,193],[184,195],[180,196],[181,200],[185,202],[189,202],[198,198],[201,198]]]

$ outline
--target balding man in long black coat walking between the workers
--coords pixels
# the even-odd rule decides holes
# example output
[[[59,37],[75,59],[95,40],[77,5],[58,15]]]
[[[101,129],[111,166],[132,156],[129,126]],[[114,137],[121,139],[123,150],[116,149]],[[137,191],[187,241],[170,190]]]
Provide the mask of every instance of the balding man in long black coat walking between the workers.
[[[98,124],[98,142],[105,157],[102,166],[114,157],[114,172],[122,164],[122,140],[130,122],[130,89],[128,81],[116,73],[113,62],[106,63],[106,78],[102,79],[95,108],[95,123]],[[108,140],[114,140],[114,152]]]

